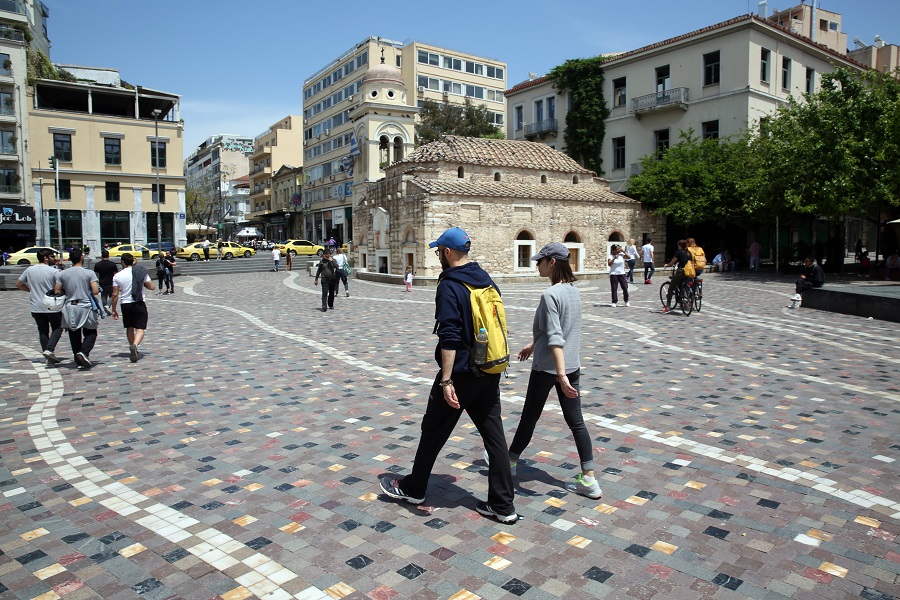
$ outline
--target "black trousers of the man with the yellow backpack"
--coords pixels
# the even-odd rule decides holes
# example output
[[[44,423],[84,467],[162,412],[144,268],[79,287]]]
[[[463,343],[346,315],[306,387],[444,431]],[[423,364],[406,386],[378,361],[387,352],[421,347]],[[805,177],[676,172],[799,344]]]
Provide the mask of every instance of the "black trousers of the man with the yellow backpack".
[[[413,497],[425,497],[434,462],[456,428],[459,417],[466,411],[481,434],[484,449],[490,458],[488,504],[501,514],[514,512],[512,471],[509,467],[506,436],[503,434],[503,421],[500,420],[500,374],[476,377],[472,374],[454,373],[453,387],[460,408],[451,408],[444,401],[444,391],[438,385],[440,379],[441,373],[438,372],[422,418],[422,438],[416,449],[412,473],[403,478],[401,489]]]

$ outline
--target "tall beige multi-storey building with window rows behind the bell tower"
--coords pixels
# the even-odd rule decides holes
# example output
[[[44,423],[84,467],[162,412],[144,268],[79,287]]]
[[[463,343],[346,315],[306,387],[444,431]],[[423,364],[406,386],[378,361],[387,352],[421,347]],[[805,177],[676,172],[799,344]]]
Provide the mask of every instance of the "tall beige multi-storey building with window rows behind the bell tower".
[[[379,75],[390,83],[384,94],[398,95],[364,97],[360,93],[364,76],[384,67],[397,71]],[[360,198],[354,184],[384,177],[385,166],[412,151],[414,133],[409,133],[406,119],[415,119],[426,100],[463,104],[469,98],[476,105],[484,104],[494,122],[502,126],[505,89],[504,62],[422,42],[403,44],[374,36],[307,78],[303,84],[306,237],[351,240],[354,198]],[[389,106],[375,111],[385,117],[384,122],[354,138],[351,111],[362,103]],[[401,105],[412,110],[403,111]],[[364,112],[374,117],[368,110]],[[351,149],[354,139],[357,146]],[[376,161],[374,166],[369,160]]]

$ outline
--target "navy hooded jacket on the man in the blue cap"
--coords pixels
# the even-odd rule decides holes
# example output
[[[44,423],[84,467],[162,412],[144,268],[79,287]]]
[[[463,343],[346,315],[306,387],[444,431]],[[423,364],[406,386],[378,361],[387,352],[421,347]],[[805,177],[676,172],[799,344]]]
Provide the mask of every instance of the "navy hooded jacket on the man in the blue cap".
[[[472,303],[469,290],[463,283],[474,288],[497,287],[490,275],[477,262],[450,267],[438,277],[437,292],[434,297],[434,318],[437,321],[438,344],[434,349],[434,359],[441,366],[441,349],[456,350],[453,363],[454,373],[472,373],[469,349],[475,345],[475,325],[472,322]],[[499,293],[499,288],[497,289]]]

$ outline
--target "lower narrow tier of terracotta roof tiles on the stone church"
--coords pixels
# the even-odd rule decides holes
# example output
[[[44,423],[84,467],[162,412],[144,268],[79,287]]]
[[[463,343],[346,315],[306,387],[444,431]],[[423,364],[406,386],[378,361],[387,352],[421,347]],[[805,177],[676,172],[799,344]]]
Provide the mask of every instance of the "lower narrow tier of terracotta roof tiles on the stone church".
[[[429,194],[447,196],[482,196],[491,198],[527,198],[534,200],[576,200],[582,202],[621,202],[637,204],[628,196],[617,194],[599,183],[569,185],[526,184],[505,182],[472,182],[464,179],[413,179],[411,184]]]

